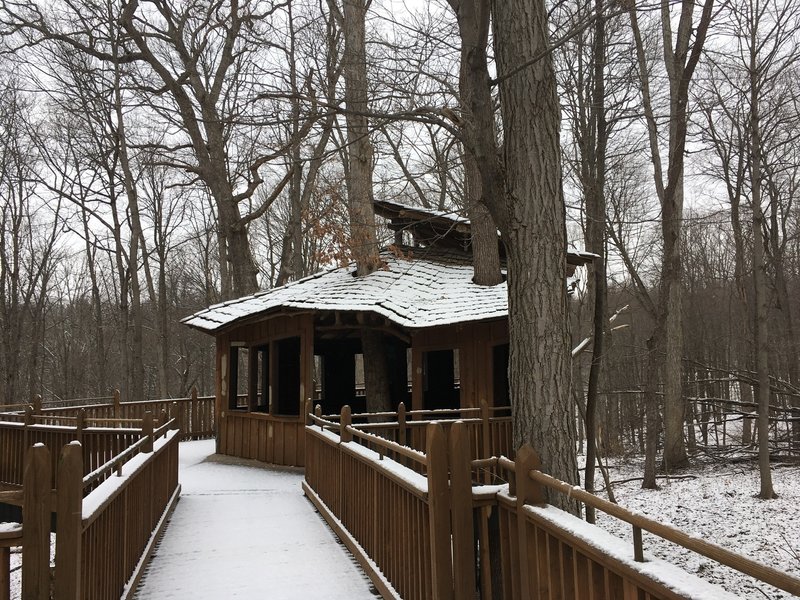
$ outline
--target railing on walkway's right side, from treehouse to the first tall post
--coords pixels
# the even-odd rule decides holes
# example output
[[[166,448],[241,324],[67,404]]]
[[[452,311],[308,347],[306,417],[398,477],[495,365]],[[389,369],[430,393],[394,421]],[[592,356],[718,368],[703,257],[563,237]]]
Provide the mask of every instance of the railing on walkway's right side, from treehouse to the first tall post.
[[[322,429],[306,429],[306,495],[371,574],[384,598],[397,597],[397,593],[407,600],[435,597],[434,588],[446,577],[440,572],[442,565],[431,557],[443,555],[439,548],[449,544],[444,525],[449,513],[442,504],[447,464],[441,463],[441,454],[432,453],[429,459],[353,427],[315,420]],[[341,437],[326,428],[337,430]],[[436,431],[429,446],[442,443],[441,428]],[[359,444],[340,444],[340,440],[352,441],[353,436],[382,448],[384,454],[392,452],[415,463],[427,477],[389,459],[382,461],[380,454]]]

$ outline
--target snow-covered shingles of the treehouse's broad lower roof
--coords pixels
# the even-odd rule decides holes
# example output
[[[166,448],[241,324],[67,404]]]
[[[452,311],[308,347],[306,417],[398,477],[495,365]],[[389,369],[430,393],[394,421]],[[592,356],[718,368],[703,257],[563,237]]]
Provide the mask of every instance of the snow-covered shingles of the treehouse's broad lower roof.
[[[370,311],[409,329],[498,319],[508,315],[505,282],[472,282],[469,256],[417,250],[396,256],[384,251],[386,268],[355,277],[353,265],[322,271],[285,286],[216,304],[181,322],[217,333],[237,322],[279,309]]]

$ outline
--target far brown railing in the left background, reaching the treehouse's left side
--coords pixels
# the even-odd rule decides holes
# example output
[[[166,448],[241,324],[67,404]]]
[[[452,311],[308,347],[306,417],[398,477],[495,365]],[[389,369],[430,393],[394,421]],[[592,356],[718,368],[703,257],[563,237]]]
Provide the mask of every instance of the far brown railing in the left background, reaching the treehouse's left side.
[[[27,423],[28,425],[53,425],[76,427],[125,427],[140,424],[145,413],[161,415],[166,413],[176,419],[181,431],[181,440],[199,440],[215,435],[215,398],[198,396],[193,389],[188,398],[169,398],[160,400],[140,400],[122,402],[119,391],[110,398],[90,398],[89,402],[59,401],[58,406],[50,406],[36,397],[30,404],[0,406],[0,421]]]

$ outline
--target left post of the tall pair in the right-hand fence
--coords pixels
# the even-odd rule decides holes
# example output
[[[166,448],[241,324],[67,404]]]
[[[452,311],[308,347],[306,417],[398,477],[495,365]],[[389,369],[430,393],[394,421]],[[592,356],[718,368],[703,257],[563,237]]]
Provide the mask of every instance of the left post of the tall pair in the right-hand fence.
[[[453,568],[450,547],[447,442],[444,430],[438,423],[429,424],[426,435],[431,587],[434,600],[452,600]]]

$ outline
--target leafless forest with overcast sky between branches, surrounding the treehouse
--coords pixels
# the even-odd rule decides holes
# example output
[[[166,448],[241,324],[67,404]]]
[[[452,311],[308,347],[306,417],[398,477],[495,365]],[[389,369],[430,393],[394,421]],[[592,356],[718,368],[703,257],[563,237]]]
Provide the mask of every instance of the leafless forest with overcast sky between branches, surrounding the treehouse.
[[[576,476],[574,398],[589,489],[595,449],[646,448],[652,486],[735,411],[763,460],[800,403],[796,3],[716,6],[6,0],[3,399],[185,394],[209,344],[177,319],[378,268],[381,197],[470,216],[478,284],[502,233],[516,441],[546,469]],[[600,257],[576,381],[565,220]]]

